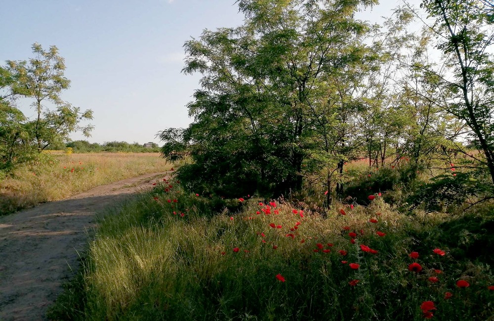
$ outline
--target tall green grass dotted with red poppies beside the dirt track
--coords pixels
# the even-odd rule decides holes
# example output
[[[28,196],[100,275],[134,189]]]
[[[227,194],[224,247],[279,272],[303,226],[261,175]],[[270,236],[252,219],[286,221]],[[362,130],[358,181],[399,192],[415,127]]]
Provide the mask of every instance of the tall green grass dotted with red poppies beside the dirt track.
[[[494,315],[493,236],[484,231],[494,222],[492,207],[461,216],[404,215],[376,196],[369,206],[337,205],[322,218],[259,202],[211,200],[162,183],[118,215],[100,218],[82,273],[49,317],[451,321]],[[427,301],[434,309],[421,308]]]

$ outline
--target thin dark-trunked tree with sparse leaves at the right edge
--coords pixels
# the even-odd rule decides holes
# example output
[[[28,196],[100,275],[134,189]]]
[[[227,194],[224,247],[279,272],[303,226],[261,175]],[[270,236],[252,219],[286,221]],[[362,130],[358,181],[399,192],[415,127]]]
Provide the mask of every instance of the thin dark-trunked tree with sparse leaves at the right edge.
[[[444,68],[415,64],[435,90],[433,102],[463,121],[494,183],[494,33],[490,1],[424,0],[421,5],[435,19]]]

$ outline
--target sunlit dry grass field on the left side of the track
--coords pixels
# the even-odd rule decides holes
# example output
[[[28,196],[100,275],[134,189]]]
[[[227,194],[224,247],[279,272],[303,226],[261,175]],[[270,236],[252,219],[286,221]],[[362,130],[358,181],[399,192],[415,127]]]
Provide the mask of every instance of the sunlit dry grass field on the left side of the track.
[[[159,153],[43,154],[0,178],[0,215],[171,166]]]

